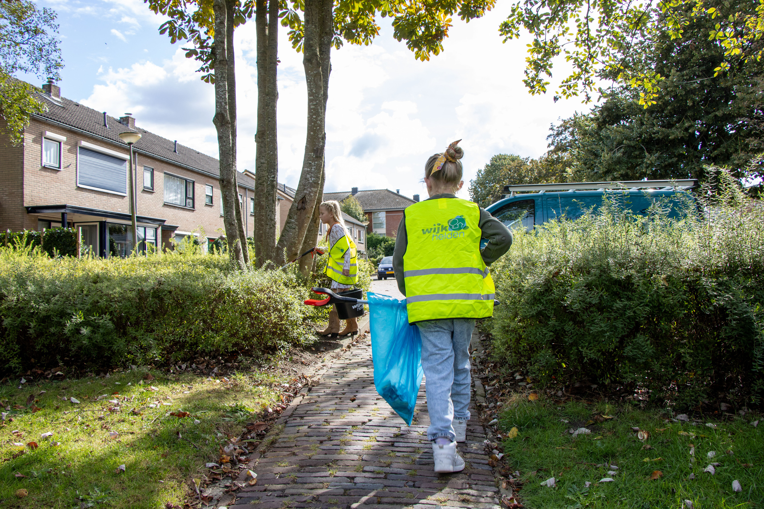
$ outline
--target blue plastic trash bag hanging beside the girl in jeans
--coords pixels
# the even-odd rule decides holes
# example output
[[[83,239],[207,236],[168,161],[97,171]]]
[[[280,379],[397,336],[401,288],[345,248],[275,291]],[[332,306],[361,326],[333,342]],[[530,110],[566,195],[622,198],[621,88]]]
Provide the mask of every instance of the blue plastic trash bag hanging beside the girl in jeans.
[[[371,325],[374,387],[384,401],[411,426],[416,395],[422,385],[422,338],[409,325],[406,299],[367,293]]]

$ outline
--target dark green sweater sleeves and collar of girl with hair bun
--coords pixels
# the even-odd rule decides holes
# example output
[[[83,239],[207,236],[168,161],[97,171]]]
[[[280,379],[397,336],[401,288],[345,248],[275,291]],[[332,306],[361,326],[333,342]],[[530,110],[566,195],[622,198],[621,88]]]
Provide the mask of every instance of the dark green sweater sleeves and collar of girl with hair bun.
[[[436,195],[432,198],[455,198],[454,195]],[[478,227],[481,230],[481,236],[488,239],[488,243],[481,250],[481,257],[486,265],[494,263],[504,253],[510,250],[512,246],[512,232],[504,226],[496,217],[490,215],[490,212],[484,208],[480,209],[480,222]],[[398,234],[395,239],[395,251],[393,251],[393,271],[395,271],[395,281],[398,283],[400,293],[406,295],[406,282],[403,279],[403,255],[406,254],[406,247],[409,240],[406,237],[406,212],[398,224]]]

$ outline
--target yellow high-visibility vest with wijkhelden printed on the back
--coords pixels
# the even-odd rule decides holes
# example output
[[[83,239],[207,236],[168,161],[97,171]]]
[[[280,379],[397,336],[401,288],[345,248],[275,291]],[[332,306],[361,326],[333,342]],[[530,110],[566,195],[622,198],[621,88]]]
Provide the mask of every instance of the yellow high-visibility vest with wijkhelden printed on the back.
[[[406,208],[403,255],[409,323],[494,314],[494,280],[480,253],[480,208],[461,198]]]

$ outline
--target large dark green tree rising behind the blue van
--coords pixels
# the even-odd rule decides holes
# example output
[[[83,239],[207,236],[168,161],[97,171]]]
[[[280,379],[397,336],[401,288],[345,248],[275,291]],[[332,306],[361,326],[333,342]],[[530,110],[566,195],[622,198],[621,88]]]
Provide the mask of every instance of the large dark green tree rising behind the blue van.
[[[550,147],[571,159],[571,180],[704,180],[709,164],[757,176],[745,168],[761,150],[764,61],[717,72],[725,48],[708,39],[715,23],[698,16],[680,39],[662,31],[636,44],[629,65],[664,78],[655,105],[640,106],[637,89],[624,84],[589,114],[552,127]]]

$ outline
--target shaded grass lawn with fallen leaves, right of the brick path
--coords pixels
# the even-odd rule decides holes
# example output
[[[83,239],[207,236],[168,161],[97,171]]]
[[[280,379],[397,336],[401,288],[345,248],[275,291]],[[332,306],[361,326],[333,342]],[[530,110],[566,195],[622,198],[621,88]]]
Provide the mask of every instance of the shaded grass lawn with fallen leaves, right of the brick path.
[[[516,477],[519,472],[519,480],[508,487],[521,487],[516,495],[529,509],[687,509],[685,500],[695,509],[764,507],[764,421],[753,427],[750,423],[759,418],[754,414],[666,422],[668,414],[627,404],[555,404],[522,395],[504,408],[500,429],[506,434],[516,427],[518,434],[502,443],[503,473]],[[574,438],[570,430],[581,427],[591,434]],[[639,440],[633,427],[649,437]],[[718,463],[714,475],[704,472],[711,463]],[[541,485],[552,477],[555,487]],[[733,491],[735,480],[742,491]],[[586,482],[591,482],[588,488]]]

